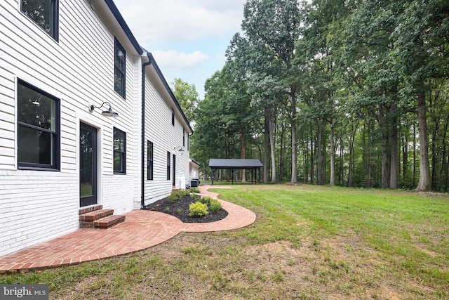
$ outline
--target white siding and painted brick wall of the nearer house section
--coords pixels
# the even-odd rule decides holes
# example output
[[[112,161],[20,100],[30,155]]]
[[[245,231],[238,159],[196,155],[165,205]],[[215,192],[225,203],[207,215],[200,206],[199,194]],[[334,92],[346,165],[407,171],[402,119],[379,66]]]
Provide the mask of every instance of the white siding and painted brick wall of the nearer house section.
[[[135,188],[140,174],[135,120],[140,58],[126,58],[123,99],[114,92],[114,32],[85,1],[60,3],[59,43],[18,8],[17,1],[0,2],[0,256],[78,228],[78,138],[83,119],[99,129],[100,204],[121,214],[133,209],[140,193]],[[61,171],[16,169],[16,78],[60,98]],[[89,104],[100,106],[104,101],[119,118],[103,117],[98,109],[88,112]],[[112,170],[114,126],[126,132],[124,176]]]

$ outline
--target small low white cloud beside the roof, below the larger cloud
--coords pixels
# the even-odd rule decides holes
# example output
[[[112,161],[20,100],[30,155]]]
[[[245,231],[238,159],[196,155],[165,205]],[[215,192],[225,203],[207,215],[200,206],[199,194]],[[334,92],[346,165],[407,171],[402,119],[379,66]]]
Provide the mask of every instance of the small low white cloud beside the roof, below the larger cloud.
[[[195,67],[197,64],[208,60],[206,54],[200,51],[194,53],[183,53],[176,50],[152,51],[156,63],[163,70],[182,70]]]

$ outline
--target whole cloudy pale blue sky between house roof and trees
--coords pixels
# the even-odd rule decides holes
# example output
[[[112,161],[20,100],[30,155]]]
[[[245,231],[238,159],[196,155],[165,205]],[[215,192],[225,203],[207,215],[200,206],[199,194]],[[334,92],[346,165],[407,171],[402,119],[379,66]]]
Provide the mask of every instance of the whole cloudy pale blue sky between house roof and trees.
[[[194,84],[222,70],[234,34],[241,32],[246,0],[114,0],[140,46],[151,52],[170,86]]]

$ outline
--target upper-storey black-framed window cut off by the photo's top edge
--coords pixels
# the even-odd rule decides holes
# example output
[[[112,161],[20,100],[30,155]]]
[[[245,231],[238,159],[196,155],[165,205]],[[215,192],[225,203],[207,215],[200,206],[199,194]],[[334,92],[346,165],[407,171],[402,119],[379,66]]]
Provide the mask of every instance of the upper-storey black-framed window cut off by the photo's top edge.
[[[59,41],[59,0],[21,0],[20,11]]]

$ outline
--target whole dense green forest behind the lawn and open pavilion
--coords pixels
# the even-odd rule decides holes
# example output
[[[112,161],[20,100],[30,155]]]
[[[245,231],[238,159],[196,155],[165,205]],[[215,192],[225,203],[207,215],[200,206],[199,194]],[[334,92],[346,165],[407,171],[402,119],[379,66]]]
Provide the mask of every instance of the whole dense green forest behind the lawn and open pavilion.
[[[248,0],[241,28],[204,99],[174,81],[201,172],[449,191],[449,1]]]

